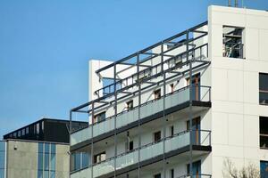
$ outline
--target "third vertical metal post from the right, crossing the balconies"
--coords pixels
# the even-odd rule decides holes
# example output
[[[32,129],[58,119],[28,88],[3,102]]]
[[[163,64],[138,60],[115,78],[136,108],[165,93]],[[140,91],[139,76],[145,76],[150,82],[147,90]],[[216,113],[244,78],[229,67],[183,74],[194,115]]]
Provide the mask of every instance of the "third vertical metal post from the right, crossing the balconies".
[[[140,105],[141,105],[141,85],[139,81],[139,53],[137,54],[137,79],[138,79],[138,178],[140,178],[140,147],[141,147],[141,136],[140,136]]]

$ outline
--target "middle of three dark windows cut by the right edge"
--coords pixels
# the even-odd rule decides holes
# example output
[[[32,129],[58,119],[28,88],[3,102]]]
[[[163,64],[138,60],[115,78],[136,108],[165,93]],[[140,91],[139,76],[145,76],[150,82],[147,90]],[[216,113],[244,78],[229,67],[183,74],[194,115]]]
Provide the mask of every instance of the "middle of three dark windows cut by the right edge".
[[[260,148],[268,149],[268,117],[260,117]]]

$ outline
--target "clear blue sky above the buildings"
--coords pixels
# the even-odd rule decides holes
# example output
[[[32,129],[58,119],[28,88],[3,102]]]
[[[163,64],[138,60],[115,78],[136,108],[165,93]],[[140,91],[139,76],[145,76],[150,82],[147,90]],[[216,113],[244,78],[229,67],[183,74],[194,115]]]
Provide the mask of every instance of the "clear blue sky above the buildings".
[[[240,2],[241,0],[239,0]],[[0,136],[88,101],[88,60],[119,60],[228,0],[0,0]],[[267,0],[244,0],[268,9]]]

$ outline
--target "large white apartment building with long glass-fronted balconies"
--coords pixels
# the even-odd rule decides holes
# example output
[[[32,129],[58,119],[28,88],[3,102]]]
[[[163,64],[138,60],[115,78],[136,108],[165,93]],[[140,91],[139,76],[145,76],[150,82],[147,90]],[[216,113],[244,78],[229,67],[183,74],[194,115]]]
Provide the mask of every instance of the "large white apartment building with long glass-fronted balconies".
[[[267,46],[268,12],[213,5],[196,27],[89,61],[70,177],[219,178],[226,160],[268,177]]]

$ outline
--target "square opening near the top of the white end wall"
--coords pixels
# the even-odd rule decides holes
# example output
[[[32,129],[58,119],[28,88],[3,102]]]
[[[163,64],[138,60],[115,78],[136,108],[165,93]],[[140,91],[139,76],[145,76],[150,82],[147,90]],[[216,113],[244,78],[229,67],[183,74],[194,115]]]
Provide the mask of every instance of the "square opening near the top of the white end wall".
[[[244,28],[223,26],[223,57],[243,58],[243,30]]]

